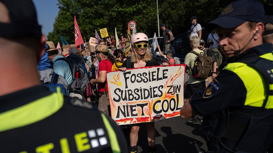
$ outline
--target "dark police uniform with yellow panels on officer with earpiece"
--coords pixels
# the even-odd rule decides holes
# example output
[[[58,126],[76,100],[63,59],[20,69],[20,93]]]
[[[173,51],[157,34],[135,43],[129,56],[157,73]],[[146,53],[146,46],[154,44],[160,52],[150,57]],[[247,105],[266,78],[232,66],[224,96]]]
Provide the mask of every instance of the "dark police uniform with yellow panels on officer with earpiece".
[[[245,64],[253,62],[256,67]],[[201,130],[210,150],[267,150],[273,140],[272,63],[272,44],[253,47],[233,57],[206,90],[194,94],[191,108],[206,116]]]

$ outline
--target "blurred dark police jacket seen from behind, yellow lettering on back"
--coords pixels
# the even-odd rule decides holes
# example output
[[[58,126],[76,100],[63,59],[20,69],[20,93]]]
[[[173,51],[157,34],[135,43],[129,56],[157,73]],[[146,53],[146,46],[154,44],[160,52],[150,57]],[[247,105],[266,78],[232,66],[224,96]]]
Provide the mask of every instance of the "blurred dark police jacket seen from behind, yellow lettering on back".
[[[88,102],[42,85],[0,97],[0,152],[128,152],[121,129]]]

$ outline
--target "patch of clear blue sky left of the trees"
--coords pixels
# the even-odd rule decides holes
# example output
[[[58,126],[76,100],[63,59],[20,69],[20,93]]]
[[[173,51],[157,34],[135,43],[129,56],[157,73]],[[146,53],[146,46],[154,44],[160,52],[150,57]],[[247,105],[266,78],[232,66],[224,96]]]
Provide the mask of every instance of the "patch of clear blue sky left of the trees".
[[[58,15],[57,0],[32,0],[38,16],[38,23],[42,25],[42,33],[45,36],[53,31],[53,23]]]

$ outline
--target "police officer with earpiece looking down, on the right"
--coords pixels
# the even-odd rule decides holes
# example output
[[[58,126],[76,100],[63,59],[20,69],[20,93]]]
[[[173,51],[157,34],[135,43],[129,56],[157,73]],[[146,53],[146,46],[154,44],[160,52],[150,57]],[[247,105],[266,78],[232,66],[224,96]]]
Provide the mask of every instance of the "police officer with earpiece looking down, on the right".
[[[205,28],[216,28],[228,59],[180,116],[205,116],[201,129],[211,151],[266,152],[273,139],[273,55],[272,44],[262,44],[264,8],[253,0],[233,2]]]

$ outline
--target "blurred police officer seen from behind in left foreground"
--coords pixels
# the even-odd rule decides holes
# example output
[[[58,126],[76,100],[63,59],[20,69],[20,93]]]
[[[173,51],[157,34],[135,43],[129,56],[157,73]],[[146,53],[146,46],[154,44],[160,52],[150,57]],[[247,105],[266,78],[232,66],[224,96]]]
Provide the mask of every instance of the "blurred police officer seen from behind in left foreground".
[[[111,118],[40,85],[46,38],[33,2],[2,0],[0,14],[0,152],[128,152]]]

